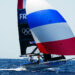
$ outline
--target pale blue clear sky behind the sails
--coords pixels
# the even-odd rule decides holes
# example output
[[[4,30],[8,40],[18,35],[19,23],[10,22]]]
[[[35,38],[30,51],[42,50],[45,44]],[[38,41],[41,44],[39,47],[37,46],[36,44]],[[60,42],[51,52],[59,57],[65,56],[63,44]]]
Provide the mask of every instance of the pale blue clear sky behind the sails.
[[[75,0],[47,1],[63,15],[75,35]],[[19,56],[17,0],[0,0],[0,58]]]

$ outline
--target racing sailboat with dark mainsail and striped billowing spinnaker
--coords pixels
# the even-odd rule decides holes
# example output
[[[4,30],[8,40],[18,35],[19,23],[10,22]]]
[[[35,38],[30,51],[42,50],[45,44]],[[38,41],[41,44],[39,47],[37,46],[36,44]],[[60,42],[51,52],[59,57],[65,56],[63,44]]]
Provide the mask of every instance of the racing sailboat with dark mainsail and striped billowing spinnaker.
[[[23,67],[33,70],[57,67],[65,64],[64,55],[75,55],[75,37],[71,29],[46,0],[18,0],[18,24],[21,55],[27,55],[28,46],[37,45],[29,54],[34,55],[38,47],[44,59],[42,63],[25,63]],[[61,56],[51,58],[51,54]]]

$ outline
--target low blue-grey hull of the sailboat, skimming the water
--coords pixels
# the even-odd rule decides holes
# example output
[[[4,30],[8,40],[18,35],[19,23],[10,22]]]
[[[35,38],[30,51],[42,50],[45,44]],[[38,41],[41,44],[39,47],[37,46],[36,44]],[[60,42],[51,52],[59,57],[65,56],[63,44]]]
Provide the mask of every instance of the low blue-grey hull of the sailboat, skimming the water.
[[[30,64],[24,64],[22,67],[26,68],[27,70],[43,70],[46,68],[54,68],[63,66],[66,64],[66,61],[48,61],[43,63],[30,63]]]

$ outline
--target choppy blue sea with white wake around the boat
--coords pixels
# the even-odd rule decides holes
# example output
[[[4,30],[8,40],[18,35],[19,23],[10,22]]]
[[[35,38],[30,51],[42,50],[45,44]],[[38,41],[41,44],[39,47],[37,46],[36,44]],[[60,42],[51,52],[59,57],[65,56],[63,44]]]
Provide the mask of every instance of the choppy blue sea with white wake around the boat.
[[[27,59],[0,59],[0,75],[75,75],[75,61],[45,70],[28,71],[22,67]]]

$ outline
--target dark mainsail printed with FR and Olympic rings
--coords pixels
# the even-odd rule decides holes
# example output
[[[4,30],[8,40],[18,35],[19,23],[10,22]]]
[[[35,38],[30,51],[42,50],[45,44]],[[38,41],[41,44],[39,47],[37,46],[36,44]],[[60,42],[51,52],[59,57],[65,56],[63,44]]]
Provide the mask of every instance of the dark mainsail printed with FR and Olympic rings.
[[[25,10],[26,0],[18,0],[18,30],[19,30],[19,41],[21,48],[21,55],[25,55],[27,47],[36,46],[33,40],[32,34],[30,32]],[[36,48],[31,52],[32,54],[36,51]]]

